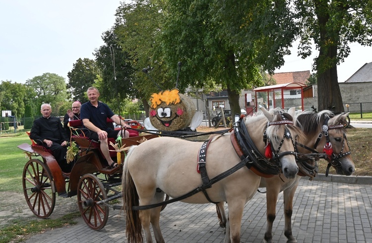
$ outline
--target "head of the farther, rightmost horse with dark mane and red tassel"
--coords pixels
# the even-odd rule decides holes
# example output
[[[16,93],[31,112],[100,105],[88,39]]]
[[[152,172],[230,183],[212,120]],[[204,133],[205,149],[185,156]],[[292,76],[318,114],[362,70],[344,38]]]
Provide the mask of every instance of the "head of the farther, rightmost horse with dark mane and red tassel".
[[[323,110],[319,113],[304,112],[296,118],[296,125],[302,127],[305,135],[308,136],[305,145],[327,154],[326,175],[330,166],[333,166],[339,175],[350,176],[355,170],[343,125],[348,114],[334,115],[329,110]]]

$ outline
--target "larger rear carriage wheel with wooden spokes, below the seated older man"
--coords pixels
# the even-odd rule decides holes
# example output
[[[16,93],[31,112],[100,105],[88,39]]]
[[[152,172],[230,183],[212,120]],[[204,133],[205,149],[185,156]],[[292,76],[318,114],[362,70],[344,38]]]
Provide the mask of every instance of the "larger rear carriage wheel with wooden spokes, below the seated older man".
[[[30,159],[23,170],[22,185],[31,211],[39,218],[49,217],[56,205],[56,190],[49,168],[39,159]]]

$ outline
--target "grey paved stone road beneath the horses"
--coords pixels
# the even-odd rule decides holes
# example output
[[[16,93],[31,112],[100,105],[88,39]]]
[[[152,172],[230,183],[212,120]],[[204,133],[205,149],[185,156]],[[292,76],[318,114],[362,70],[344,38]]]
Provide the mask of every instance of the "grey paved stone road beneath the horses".
[[[63,200],[63,198],[57,198]],[[160,219],[168,243],[223,242],[212,204],[167,205]],[[292,215],[293,235],[299,243],[372,243],[372,186],[300,180]],[[264,242],[266,198],[257,193],[245,207],[241,242]],[[285,243],[283,194],[279,195],[273,241]],[[125,216],[110,210],[107,225],[93,231],[81,218],[78,224],[35,235],[27,243],[126,243]]]

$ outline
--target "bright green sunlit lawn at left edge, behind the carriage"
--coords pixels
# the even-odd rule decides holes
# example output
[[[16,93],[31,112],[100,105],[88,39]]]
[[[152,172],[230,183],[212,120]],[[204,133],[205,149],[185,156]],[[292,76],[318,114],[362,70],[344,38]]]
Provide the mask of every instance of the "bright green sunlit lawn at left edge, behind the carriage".
[[[0,191],[23,193],[22,172],[28,161],[23,150],[17,145],[31,144],[26,134],[0,138]]]

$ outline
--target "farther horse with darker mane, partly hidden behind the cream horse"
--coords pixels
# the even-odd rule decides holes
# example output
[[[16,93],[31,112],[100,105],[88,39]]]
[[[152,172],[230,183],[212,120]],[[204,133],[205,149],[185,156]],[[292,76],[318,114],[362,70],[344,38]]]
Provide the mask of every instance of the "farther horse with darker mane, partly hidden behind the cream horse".
[[[292,112],[291,112],[292,111]],[[288,111],[293,114],[294,110]],[[330,166],[335,168],[339,175],[350,176],[353,174],[355,167],[350,156],[350,147],[347,143],[346,131],[343,124],[346,122],[346,116],[349,113],[334,115],[329,110],[323,110],[318,113],[305,111],[297,115],[295,125],[300,127],[305,133],[307,140],[305,144],[299,144],[298,150],[302,153],[323,152],[324,148],[331,144],[333,152],[325,159],[328,162],[326,175]],[[314,174],[299,173],[295,178],[283,178],[280,175],[275,175],[270,178],[262,178],[259,188],[266,188],[267,202],[267,227],[264,239],[268,243],[272,243],[272,226],[276,217],[276,202],[278,194],[283,192],[284,197],[284,215],[285,215],[285,230],[284,235],[287,237],[287,243],[296,243],[296,239],[292,235],[291,216],[293,211],[293,198],[302,176],[314,177]],[[220,226],[225,227],[227,219],[225,215],[224,202],[217,204],[218,218]],[[226,231],[228,234],[228,231]]]

